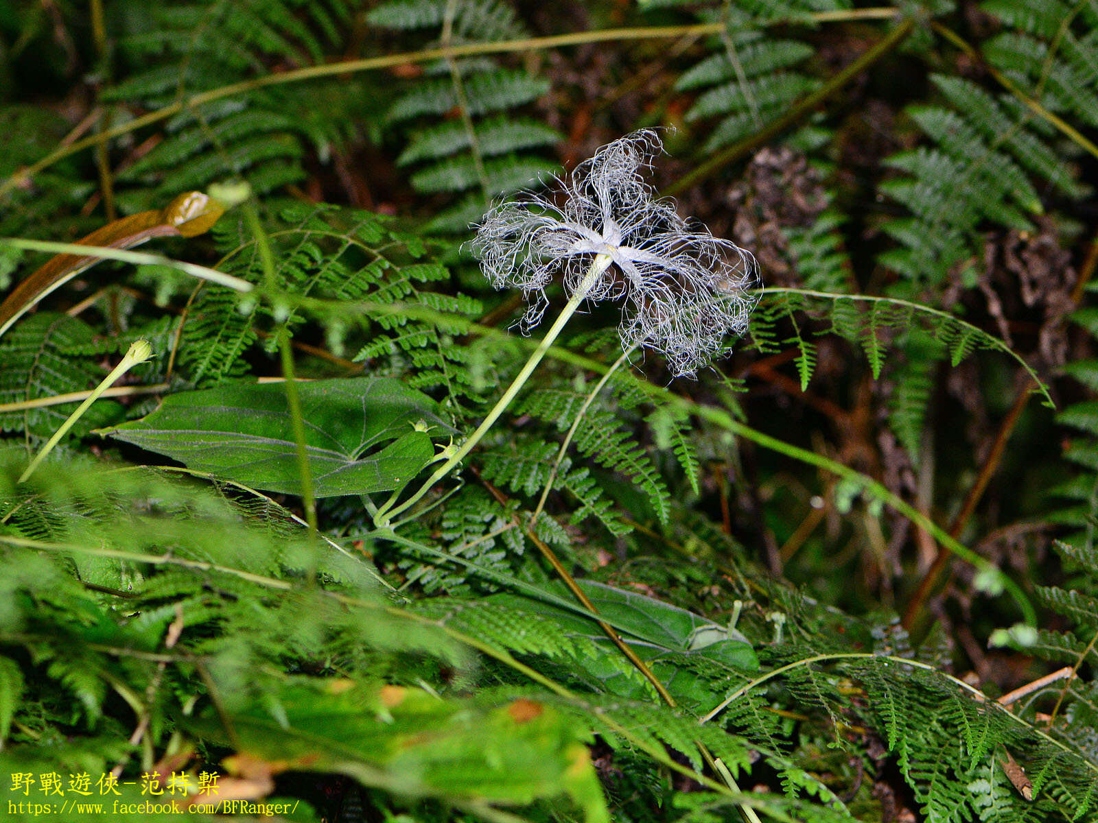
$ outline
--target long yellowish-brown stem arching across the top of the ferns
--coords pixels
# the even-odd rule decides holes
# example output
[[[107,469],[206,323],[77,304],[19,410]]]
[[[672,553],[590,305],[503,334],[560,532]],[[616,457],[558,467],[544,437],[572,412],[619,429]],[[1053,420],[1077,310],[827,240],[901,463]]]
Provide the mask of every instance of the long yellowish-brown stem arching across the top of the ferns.
[[[896,16],[897,10],[890,7],[871,9],[840,9],[836,11],[817,12],[805,14],[800,20],[809,23],[841,23],[851,20],[887,20]],[[796,22],[796,19],[775,19],[766,21],[768,24],[780,24]],[[195,109],[206,103],[212,103],[224,98],[245,94],[256,89],[268,86],[281,86],[283,83],[300,82],[303,80],[315,80],[322,77],[333,77],[337,75],[348,75],[357,71],[371,71],[381,68],[392,68],[415,63],[429,63],[437,59],[452,57],[469,57],[471,55],[505,54],[508,52],[529,52],[541,48],[559,48],[562,46],[578,46],[585,43],[606,43],[613,41],[631,40],[668,40],[673,37],[704,36],[707,34],[718,34],[724,29],[722,23],[697,23],[694,25],[664,25],[664,26],[636,26],[631,29],[604,29],[592,32],[571,32],[569,34],[553,34],[547,37],[524,37],[522,40],[495,41],[493,43],[469,43],[464,45],[447,46],[445,48],[428,48],[419,52],[405,52],[403,54],[384,55],[381,57],[367,57],[359,60],[341,60],[339,63],[328,63],[322,66],[307,66],[292,71],[280,71],[278,74],[256,77],[250,80],[243,80],[238,83],[223,86],[219,89],[211,89],[200,94],[192,94],[187,100],[157,109],[139,117],[134,117],[126,123],[120,123],[111,128],[85,137],[79,140],[60,146],[49,153],[41,160],[31,164],[24,169],[20,169],[3,182],[0,182],[0,196],[15,189],[29,178],[37,174],[43,169],[49,168],[58,160],[63,160],[70,155],[82,151],[86,148],[96,146],[104,140],[111,140],[124,134],[130,134],[138,128],[159,123],[172,117],[180,112]]]

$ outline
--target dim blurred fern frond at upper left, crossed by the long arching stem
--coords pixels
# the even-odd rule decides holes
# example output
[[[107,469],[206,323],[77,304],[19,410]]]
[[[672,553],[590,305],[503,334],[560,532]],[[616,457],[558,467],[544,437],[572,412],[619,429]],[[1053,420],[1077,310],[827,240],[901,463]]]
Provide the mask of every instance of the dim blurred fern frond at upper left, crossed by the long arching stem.
[[[272,59],[322,63],[339,47],[349,11],[343,0],[157,7],[146,27],[122,40],[134,68],[103,99],[159,108],[266,74]],[[117,173],[120,204],[125,211],[159,207],[181,191],[234,177],[256,193],[300,181],[305,144],[324,144],[316,145],[324,154],[333,139],[305,114],[309,94],[302,86],[268,88],[180,113],[168,122],[165,139]]]

